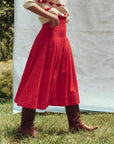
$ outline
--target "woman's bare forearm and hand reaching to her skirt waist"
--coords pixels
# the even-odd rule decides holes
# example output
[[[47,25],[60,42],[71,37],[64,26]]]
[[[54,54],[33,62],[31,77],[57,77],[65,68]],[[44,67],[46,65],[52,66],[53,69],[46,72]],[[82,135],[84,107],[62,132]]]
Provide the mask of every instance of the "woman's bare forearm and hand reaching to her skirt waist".
[[[44,10],[39,5],[34,5],[34,6],[27,8],[27,9],[30,10],[31,12],[37,14],[37,15],[40,15],[40,16],[43,16],[45,18],[50,19],[50,27],[51,28],[53,28],[59,24],[59,19],[58,19],[57,15],[54,15],[54,14]]]

